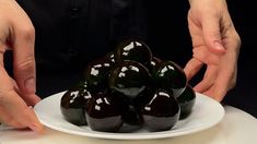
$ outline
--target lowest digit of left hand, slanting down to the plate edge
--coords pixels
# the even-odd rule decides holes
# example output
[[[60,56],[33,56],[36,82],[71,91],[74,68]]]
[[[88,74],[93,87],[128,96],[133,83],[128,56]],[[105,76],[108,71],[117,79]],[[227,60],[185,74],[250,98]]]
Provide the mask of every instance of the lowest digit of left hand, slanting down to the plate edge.
[[[43,125],[39,123],[34,111],[27,107],[25,101],[23,101],[13,89],[12,82],[2,67],[0,67],[0,80],[1,82],[4,82],[4,84],[0,85],[1,108],[22,125],[26,125],[34,131],[40,132]]]

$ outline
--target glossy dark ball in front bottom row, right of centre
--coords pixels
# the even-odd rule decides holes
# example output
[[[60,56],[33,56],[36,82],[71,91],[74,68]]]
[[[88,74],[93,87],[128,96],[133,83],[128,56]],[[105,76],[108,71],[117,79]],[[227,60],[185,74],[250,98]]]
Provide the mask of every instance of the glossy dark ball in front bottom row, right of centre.
[[[179,119],[180,108],[177,100],[163,89],[152,94],[152,99],[143,107],[142,117],[144,125],[150,131],[171,130]]]

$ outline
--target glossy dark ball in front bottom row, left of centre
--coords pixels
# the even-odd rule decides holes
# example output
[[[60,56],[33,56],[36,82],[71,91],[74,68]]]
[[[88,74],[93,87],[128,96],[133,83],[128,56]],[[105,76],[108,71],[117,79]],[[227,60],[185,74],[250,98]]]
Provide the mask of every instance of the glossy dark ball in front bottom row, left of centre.
[[[86,121],[94,131],[116,132],[122,125],[122,107],[119,101],[103,92],[94,94],[86,105]]]

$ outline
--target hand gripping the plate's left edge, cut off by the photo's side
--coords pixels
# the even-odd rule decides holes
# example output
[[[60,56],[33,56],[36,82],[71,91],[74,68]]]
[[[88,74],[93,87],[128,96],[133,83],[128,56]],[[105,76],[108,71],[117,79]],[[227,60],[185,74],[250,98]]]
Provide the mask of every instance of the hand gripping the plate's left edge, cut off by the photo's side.
[[[0,123],[14,128],[43,131],[30,106],[40,100],[36,96],[34,26],[15,0],[0,0]],[[9,76],[3,55],[13,52],[13,74]]]

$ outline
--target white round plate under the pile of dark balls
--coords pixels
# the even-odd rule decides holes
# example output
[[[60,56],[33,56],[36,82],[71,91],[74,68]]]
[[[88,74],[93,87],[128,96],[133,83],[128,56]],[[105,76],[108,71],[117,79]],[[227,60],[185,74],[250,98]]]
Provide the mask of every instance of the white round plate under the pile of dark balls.
[[[54,130],[61,132],[115,140],[144,140],[144,139],[162,139],[186,135],[209,129],[219,123],[224,116],[224,108],[220,103],[197,93],[196,105],[189,117],[179,120],[173,129],[162,132],[149,132],[145,129],[140,129],[130,133],[112,133],[92,131],[89,127],[78,127],[66,121],[60,112],[60,98],[65,92],[51,95],[34,108],[39,121]]]

